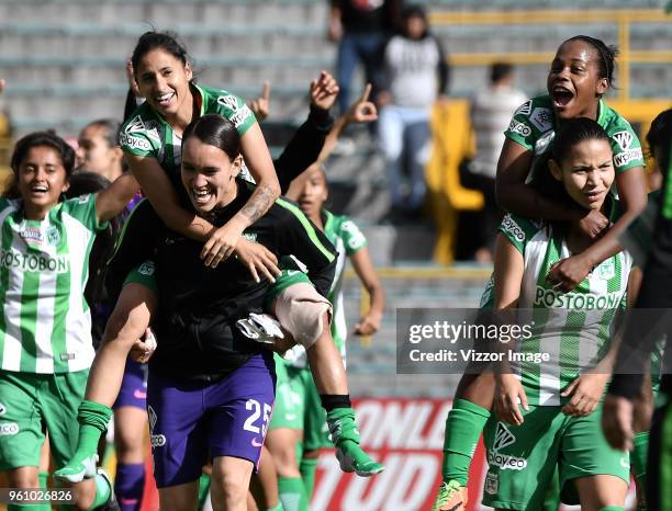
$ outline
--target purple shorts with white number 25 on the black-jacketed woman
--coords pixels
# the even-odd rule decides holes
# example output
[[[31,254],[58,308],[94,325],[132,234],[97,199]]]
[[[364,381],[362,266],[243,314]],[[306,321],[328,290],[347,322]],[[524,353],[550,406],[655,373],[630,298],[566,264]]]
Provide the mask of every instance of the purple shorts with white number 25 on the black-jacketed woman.
[[[184,382],[152,371],[147,412],[158,488],[198,479],[217,456],[257,468],[276,398],[270,354],[254,355],[216,383]]]

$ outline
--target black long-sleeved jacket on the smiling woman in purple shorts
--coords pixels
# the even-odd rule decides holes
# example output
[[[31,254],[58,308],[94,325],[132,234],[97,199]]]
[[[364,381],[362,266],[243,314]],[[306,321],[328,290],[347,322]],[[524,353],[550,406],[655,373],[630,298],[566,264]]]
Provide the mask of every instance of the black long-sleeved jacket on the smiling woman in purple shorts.
[[[242,180],[237,180],[237,188],[236,198],[209,218],[214,225],[224,225],[254,191],[254,185]],[[245,338],[235,322],[249,313],[264,311],[271,284],[266,279],[255,282],[235,257],[216,269],[206,268],[200,258],[203,243],[165,226],[158,229],[156,213],[145,203],[133,212],[135,227],[125,232],[123,245],[155,261],[159,307],[153,328],[158,348],[150,367],[180,379],[217,379],[265,351]],[[326,296],[336,269],[335,249],[294,203],[277,200],[243,236],[264,245],[278,260],[293,256],[303,263],[317,292]],[[127,258],[115,259],[111,272],[125,275]]]

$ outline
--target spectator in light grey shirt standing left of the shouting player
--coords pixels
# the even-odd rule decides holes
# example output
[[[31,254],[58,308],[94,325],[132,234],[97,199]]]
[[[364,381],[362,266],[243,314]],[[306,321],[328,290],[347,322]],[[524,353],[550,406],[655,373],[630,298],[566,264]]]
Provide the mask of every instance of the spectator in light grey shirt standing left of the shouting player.
[[[477,228],[469,229],[475,237],[473,258],[480,262],[492,261],[497,226],[502,220],[495,198],[495,175],[504,130],[515,110],[527,100],[524,92],[513,88],[513,76],[511,64],[493,64],[489,87],[477,94],[471,106],[475,157],[462,167],[461,179],[464,186],[479,190],[485,201],[483,209],[474,218]]]

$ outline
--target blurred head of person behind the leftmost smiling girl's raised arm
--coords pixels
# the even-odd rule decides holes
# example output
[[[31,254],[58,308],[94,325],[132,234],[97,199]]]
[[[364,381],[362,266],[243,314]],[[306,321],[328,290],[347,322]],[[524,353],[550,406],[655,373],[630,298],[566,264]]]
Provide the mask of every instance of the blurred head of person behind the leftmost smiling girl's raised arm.
[[[120,127],[120,122],[113,118],[101,118],[85,126],[76,150],[77,170],[93,172],[110,182],[123,174],[124,154],[117,143]]]

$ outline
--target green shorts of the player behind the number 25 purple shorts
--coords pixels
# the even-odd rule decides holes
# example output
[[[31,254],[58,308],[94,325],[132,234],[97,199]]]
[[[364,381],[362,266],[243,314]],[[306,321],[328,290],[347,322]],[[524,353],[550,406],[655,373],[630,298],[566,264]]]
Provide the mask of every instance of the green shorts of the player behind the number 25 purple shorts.
[[[311,370],[292,367],[282,362],[280,356],[275,357],[278,383],[269,429],[302,430],[305,451],[333,447],[326,411],[322,408]]]

